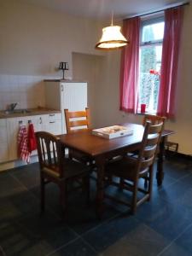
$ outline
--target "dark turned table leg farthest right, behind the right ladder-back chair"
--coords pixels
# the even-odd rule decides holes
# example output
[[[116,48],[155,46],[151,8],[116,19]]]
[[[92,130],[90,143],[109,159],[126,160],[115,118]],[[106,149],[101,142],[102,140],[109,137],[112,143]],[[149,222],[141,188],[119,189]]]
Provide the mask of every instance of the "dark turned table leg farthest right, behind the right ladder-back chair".
[[[159,151],[158,160],[157,160],[157,173],[156,173],[158,186],[162,184],[163,178],[164,178],[163,161],[164,161],[164,153],[165,153],[165,142],[166,142],[166,137],[161,137],[160,151]]]

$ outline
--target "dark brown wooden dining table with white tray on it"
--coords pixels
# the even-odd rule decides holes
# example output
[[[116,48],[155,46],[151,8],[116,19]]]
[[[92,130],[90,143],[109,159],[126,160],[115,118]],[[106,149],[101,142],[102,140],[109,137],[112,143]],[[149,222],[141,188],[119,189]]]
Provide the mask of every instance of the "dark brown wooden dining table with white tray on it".
[[[88,156],[96,163],[96,213],[100,218],[102,217],[103,212],[106,161],[117,155],[123,155],[137,150],[142,143],[144,131],[143,125],[126,123],[123,124],[123,126],[131,129],[133,131],[132,134],[113,139],[106,139],[93,135],[91,130],[86,129],[60,136],[63,148],[72,148],[73,150]],[[174,131],[170,130],[165,130],[162,133],[156,172],[158,185],[162,184],[164,177],[163,160],[166,137],[173,133]]]

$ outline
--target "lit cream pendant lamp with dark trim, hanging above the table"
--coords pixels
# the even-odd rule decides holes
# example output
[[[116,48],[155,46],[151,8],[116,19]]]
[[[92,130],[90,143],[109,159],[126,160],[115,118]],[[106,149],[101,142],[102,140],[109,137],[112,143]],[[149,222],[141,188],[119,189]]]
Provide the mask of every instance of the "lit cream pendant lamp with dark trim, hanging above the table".
[[[120,26],[113,26],[112,14],[111,26],[103,27],[102,38],[96,44],[96,49],[120,49],[128,44],[120,29]]]

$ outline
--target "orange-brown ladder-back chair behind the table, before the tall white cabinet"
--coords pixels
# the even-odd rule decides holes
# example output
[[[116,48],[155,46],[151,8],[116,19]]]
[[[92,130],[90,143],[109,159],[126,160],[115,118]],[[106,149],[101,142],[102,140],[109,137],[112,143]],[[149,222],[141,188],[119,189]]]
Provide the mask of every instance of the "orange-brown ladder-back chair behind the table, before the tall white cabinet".
[[[90,128],[90,109],[85,108],[84,111],[72,111],[69,112],[68,109],[64,109],[65,119],[66,119],[66,129],[67,133],[73,133],[78,131],[84,131],[84,129]],[[73,149],[69,150],[69,158],[79,160],[84,164],[90,165],[91,160],[80,154]]]

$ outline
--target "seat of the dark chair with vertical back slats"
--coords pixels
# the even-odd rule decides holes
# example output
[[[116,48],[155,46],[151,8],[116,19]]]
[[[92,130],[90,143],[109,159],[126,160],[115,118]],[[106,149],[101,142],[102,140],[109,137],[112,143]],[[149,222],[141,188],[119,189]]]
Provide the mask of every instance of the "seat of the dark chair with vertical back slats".
[[[54,171],[53,171],[54,169]],[[59,174],[59,167],[53,166],[52,168],[44,167],[43,172],[49,174],[52,177],[60,178]],[[65,166],[64,166],[65,176],[62,177],[62,179],[69,179],[74,177],[79,177],[83,175],[87,175],[87,172],[90,172],[90,168],[88,166],[85,166],[84,164],[79,163],[78,161],[66,159],[65,160]]]

